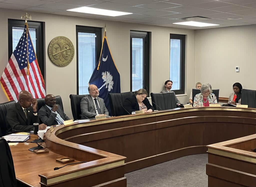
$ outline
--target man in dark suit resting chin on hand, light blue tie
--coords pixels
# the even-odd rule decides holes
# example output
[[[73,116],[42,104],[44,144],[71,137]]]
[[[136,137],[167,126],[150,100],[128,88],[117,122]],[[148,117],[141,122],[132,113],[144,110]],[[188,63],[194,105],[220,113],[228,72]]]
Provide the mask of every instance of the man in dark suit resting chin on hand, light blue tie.
[[[56,101],[54,95],[46,95],[45,105],[38,111],[40,120],[47,126],[63,124],[64,121],[70,120],[60,105],[56,104]]]

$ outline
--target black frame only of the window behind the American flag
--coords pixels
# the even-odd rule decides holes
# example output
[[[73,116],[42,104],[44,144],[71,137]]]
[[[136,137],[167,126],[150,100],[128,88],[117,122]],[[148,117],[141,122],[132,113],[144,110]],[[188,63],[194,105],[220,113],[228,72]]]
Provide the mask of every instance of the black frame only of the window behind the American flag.
[[[45,22],[27,21],[29,29],[36,29],[36,57],[43,79],[45,78]],[[24,28],[25,21],[8,19],[8,59],[13,53],[13,27]],[[35,45],[35,44],[33,44]],[[46,83],[45,83],[46,84]]]

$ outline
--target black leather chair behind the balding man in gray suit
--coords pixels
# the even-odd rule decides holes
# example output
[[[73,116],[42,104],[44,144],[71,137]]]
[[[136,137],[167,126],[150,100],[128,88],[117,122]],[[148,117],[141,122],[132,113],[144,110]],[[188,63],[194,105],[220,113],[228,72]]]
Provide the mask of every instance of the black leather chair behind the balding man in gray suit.
[[[87,95],[89,95],[89,94],[87,94]],[[81,117],[79,116],[79,115],[81,115],[80,102],[81,102],[82,98],[87,95],[73,95],[73,94],[69,95],[71,111],[72,111],[74,120],[81,119]]]

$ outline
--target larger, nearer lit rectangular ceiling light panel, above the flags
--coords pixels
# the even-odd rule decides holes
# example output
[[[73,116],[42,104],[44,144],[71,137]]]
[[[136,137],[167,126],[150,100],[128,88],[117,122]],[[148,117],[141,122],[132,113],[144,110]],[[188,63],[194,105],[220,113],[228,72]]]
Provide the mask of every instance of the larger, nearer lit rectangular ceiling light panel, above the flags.
[[[68,11],[88,13],[88,14],[97,14],[97,15],[104,15],[104,16],[122,16],[122,15],[132,14],[132,13],[128,13],[128,12],[119,12],[119,11],[114,11],[114,10],[105,10],[105,9],[100,9],[100,8],[86,7],[86,6],[69,9]]]

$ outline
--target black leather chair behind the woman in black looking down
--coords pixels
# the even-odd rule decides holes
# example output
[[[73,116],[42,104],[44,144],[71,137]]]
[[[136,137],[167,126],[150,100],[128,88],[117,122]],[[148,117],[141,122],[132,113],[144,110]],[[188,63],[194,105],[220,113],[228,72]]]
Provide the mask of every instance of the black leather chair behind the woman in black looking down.
[[[124,93],[109,93],[109,105],[112,116],[121,116],[123,115],[123,107],[120,103],[123,104],[123,101],[127,97],[131,97],[133,95],[132,92],[124,92]],[[128,115],[128,114],[127,114]]]

